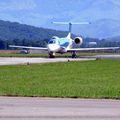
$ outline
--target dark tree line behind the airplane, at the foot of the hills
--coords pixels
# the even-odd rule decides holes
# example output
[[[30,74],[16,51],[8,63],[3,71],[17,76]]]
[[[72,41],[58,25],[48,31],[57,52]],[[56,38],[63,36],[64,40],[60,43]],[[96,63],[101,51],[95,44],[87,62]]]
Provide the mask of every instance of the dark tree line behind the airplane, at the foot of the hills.
[[[46,47],[49,39],[44,40],[28,40],[28,39],[13,39],[13,40],[2,40],[0,39],[0,49],[7,50],[9,45],[18,45],[18,46],[33,46],[33,47]],[[89,42],[96,42],[96,45],[89,45]],[[81,46],[77,47],[120,47],[120,41],[108,41],[106,39],[93,39],[93,38],[84,38],[84,42]]]

